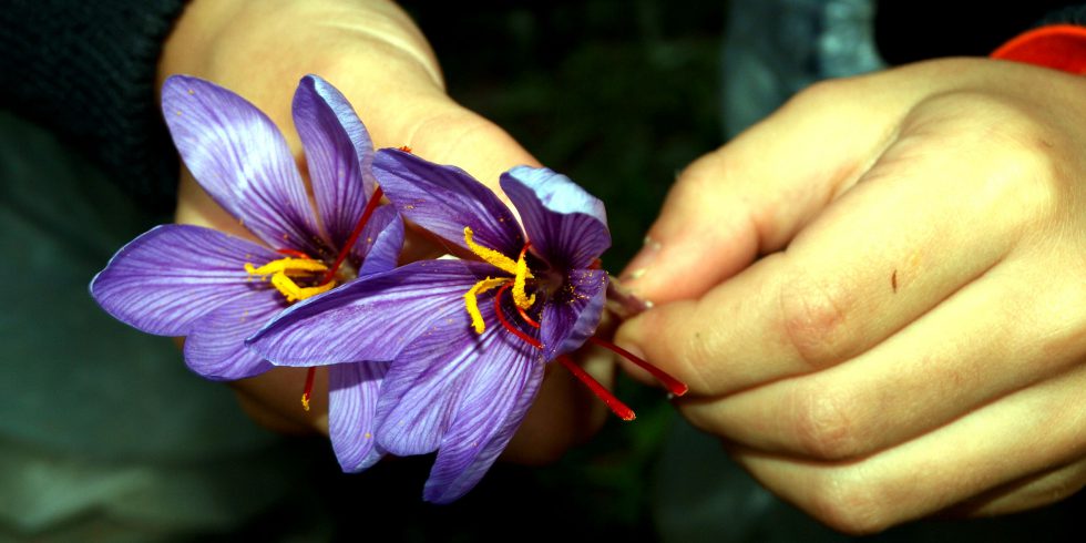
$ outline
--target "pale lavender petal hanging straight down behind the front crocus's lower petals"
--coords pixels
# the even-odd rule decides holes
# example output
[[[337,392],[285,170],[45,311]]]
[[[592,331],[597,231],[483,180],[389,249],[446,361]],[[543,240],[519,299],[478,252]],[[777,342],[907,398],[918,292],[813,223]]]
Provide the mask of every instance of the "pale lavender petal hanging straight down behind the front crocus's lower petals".
[[[362,471],[381,459],[377,444],[377,398],[386,362],[337,363],[328,367],[328,434],[339,465]]]

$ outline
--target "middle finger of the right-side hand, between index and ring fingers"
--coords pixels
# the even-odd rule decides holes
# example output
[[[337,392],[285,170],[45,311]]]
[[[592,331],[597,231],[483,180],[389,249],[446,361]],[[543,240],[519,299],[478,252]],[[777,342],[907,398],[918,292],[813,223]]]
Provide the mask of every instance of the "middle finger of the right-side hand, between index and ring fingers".
[[[1028,257],[1004,263],[844,363],[680,408],[762,451],[839,460],[888,449],[1080,361],[1080,279],[1038,290],[1045,273]]]

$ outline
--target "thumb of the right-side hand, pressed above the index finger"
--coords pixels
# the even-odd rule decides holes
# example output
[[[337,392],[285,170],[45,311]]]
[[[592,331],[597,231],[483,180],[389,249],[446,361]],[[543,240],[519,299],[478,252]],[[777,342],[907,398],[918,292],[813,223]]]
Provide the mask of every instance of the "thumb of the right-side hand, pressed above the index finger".
[[[867,79],[805,91],[683,172],[622,279],[657,304],[686,299],[781,248],[863,173],[910,94]]]

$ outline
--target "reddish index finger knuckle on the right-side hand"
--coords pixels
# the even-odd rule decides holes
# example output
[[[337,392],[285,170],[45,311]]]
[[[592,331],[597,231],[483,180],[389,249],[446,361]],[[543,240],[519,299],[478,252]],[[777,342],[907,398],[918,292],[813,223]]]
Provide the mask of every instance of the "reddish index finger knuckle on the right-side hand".
[[[785,339],[811,370],[831,366],[854,348],[849,330],[850,297],[840,283],[805,275],[781,285],[780,326]]]

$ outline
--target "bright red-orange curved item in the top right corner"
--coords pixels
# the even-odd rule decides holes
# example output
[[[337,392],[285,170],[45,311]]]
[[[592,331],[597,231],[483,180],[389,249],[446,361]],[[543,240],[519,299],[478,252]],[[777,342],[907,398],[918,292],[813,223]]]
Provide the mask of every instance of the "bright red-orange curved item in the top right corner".
[[[1053,24],[1018,34],[991,55],[1086,74],[1086,28]]]

